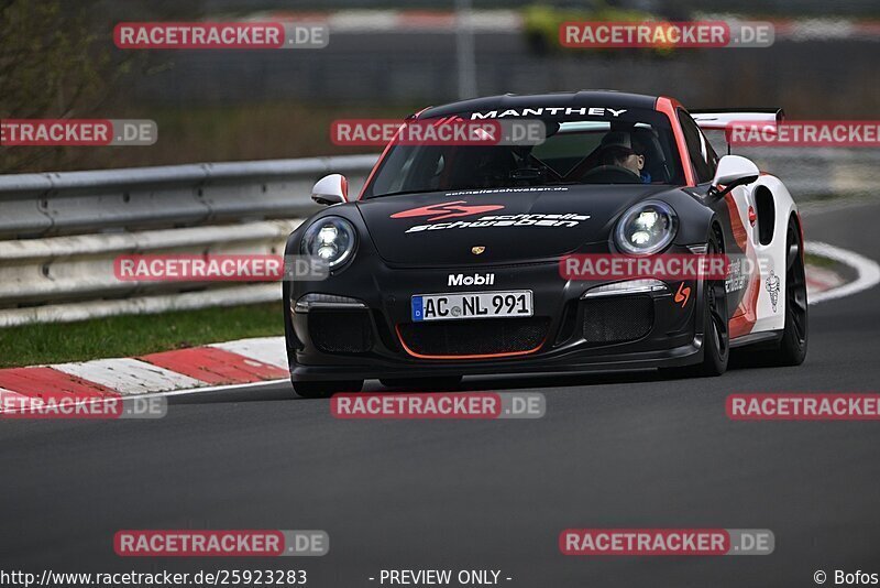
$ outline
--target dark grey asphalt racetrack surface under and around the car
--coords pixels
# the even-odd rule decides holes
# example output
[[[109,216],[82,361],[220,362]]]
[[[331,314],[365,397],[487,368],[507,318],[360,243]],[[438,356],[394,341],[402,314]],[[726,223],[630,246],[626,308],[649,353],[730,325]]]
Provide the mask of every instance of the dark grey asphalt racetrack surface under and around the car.
[[[805,216],[880,259],[878,204]],[[288,384],[173,399],[166,418],[0,423],[0,569],[299,567],[308,586],[383,568],[501,569],[510,587],[814,586],[880,573],[880,424],[743,423],[733,392],[877,391],[880,291],[811,307],[800,368],[481,379],[540,391],[534,421],[338,421]],[[377,383],[370,389],[377,390]],[[739,557],[566,557],[568,527],[770,529]],[[321,558],[123,559],[121,529],[321,529]],[[829,579],[828,585],[833,585]]]

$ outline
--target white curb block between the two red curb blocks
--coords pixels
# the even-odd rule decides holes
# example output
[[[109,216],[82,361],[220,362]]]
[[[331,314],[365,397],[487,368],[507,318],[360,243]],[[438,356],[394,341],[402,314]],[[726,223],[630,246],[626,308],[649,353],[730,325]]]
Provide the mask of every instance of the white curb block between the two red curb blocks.
[[[187,390],[208,385],[207,382],[183,373],[131,358],[97,359],[52,367],[70,375],[105,385],[123,395]]]

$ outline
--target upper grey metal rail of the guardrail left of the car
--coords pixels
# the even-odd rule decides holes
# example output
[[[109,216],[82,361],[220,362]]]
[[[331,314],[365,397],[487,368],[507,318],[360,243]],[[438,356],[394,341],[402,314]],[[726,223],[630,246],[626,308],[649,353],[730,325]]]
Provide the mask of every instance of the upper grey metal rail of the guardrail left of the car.
[[[0,176],[0,239],[296,218],[312,184],[362,184],[375,155]]]

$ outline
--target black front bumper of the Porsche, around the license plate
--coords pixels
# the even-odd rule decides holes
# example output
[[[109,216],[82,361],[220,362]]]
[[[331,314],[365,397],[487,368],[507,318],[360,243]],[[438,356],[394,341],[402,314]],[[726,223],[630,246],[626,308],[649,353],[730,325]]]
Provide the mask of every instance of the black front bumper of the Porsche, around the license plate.
[[[587,333],[585,322],[595,319],[595,300],[583,298],[587,291],[606,282],[566,281],[556,261],[519,265],[471,265],[469,268],[414,269],[372,264],[375,271],[343,271],[324,282],[298,282],[288,293],[288,359],[296,381],[413,378],[477,374],[575,373],[679,367],[697,363],[702,350],[702,284],[684,282],[693,293],[686,301],[676,296],[680,282],[662,291],[624,292],[602,300],[630,301],[638,296],[640,308],[650,308],[647,331],[627,340],[603,341]],[[455,274],[494,274],[490,286],[449,286]],[[546,324],[546,334],[535,348],[501,353],[425,355],[414,351],[400,333],[411,325],[410,297],[442,292],[531,290],[535,317]],[[332,305],[308,309],[296,302],[309,293],[332,294],[355,300],[345,308]],[[646,300],[647,297],[647,300]],[[678,298],[678,302],[676,302]],[[591,314],[591,309],[593,313]],[[327,352],[326,341],[316,341],[316,313],[338,313],[331,324],[338,328],[359,325],[358,345]],[[326,319],[328,315],[323,315]],[[592,318],[591,318],[592,317]],[[645,319],[644,317],[641,318]],[[515,318],[473,319],[485,338],[497,322]],[[458,323],[458,322],[448,322]],[[310,328],[311,327],[311,328]],[[595,330],[595,326],[593,327]],[[488,334],[488,335],[487,335]],[[369,335],[369,336],[367,336]],[[454,346],[454,341],[452,344]],[[324,350],[322,350],[322,346]],[[342,348],[341,347],[341,348]],[[446,347],[449,347],[448,345]],[[444,349],[446,349],[444,347]],[[340,348],[340,349],[341,349]],[[496,350],[493,350],[496,351]]]

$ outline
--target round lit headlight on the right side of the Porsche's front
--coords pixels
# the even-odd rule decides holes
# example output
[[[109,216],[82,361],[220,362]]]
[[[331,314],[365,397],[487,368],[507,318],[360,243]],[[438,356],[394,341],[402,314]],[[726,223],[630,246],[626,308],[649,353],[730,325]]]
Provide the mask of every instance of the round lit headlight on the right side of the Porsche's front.
[[[679,228],[679,217],[666,203],[639,203],[620,217],[614,229],[617,249],[630,255],[650,255],[667,248]]]

